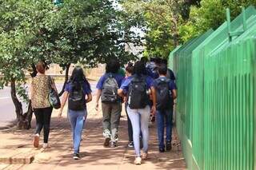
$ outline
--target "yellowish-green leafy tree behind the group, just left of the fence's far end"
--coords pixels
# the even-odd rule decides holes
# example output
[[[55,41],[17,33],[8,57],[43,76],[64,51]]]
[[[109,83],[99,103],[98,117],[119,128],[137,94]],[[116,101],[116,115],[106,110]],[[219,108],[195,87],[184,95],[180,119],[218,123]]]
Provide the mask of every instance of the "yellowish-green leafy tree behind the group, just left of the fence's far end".
[[[146,33],[146,57],[168,57],[170,50],[182,43],[179,27],[187,22],[190,6],[198,0],[126,0],[124,9],[137,15]]]

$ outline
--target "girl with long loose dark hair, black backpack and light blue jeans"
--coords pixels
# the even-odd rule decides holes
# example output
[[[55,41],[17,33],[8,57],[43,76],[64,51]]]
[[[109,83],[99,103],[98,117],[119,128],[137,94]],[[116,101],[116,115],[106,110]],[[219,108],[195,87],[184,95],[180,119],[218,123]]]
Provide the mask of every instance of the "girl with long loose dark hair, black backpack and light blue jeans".
[[[58,117],[62,117],[62,111],[68,99],[68,119],[73,132],[74,160],[79,160],[79,148],[82,140],[82,129],[86,123],[86,103],[92,101],[90,83],[86,80],[83,69],[74,67],[70,80],[65,87],[62,98],[62,106]]]

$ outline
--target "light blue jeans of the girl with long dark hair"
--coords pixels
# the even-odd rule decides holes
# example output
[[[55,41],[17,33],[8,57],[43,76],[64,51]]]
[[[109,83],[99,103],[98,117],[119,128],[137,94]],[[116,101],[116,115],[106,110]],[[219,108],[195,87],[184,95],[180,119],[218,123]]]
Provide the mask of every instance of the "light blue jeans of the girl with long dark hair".
[[[85,110],[68,110],[68,118],[73,131],[74,153],[79,153],[80,142],[82,138],[82,129],[86,122],[87,111]]]

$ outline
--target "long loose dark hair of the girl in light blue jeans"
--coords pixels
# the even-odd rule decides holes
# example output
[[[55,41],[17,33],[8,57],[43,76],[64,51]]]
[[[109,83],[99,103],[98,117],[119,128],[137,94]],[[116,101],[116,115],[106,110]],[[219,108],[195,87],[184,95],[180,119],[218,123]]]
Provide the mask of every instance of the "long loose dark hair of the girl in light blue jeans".
[[[87,81],[85,74],[83,73],[83,69],[81,66],[75,66],[70,77],[70,83],[72,85],[72,90],[80,89],[82,83],[86,83],[88,87],[90,87],[90,83]]]

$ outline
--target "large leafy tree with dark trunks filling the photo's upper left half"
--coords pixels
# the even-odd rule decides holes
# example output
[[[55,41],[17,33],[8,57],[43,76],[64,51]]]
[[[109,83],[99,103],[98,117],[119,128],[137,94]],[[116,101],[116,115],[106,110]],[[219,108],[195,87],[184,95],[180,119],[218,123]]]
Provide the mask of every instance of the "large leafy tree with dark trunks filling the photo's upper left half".
[[[134,22],[127,23],[129,16],[108,0],[66,0],[61,7],[49,0],[5,0],[0,14],[0,85],[11,85],[18,128],[30,128],[31,105],[23,113],[17,94],[29,102],[23,86],[26,70],[36,75],[34,63],[61,65],[67,81],[71,63],[92,67],[110,57],[124,63],[135,58],[125,44],[140,43],[130,29]]]

